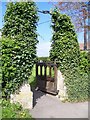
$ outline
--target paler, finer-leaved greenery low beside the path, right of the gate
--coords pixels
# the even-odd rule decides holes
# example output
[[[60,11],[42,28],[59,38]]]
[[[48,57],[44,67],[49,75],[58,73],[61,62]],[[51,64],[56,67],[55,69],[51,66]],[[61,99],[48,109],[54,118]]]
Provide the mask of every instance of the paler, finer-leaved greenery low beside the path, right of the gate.
[[[80,68],[76,68],[75,70],[65,71],[64,76],[68,100],[75,102],[88,100],[90,93],[88,74]]]

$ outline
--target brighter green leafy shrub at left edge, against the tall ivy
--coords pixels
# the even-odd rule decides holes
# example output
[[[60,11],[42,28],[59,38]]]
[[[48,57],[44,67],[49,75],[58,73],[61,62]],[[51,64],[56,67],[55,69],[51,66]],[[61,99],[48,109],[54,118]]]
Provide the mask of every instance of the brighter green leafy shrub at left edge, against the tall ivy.
[[[17,65],[13,63],[15,52],[20,50],[20,47],[15,40],[10,38],[0,39],[2,43],[2,95],[10,95],[16,88],[18,88],[19,79],[16,78]]]

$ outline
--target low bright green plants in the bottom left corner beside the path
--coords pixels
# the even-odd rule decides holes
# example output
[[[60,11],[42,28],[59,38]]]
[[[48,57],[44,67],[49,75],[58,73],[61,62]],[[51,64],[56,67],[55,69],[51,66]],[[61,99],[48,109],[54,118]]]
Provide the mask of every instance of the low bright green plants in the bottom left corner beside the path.
[[[30,120],[34,120],[30,115],[29,111],[23,110],[22,106],[19,103],[11,104],[9,100],[2,100],[2,119],[5,118],[29,118]]]

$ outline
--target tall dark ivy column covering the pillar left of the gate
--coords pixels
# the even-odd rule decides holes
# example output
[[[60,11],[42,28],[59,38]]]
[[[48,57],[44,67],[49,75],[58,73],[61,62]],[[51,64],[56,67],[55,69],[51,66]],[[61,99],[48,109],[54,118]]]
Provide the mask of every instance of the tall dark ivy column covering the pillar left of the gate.
[[[4,39],[2,48],[5,51],[8,47],[8,53],[6,51],[3,53],[3,57],[5,56],[7,59],[3,61],[5,69],[2,73],[4,96],[9,96],[12,91],[15,91],[16,86],[19,87],[23,81],[27,81],[31,74],[31,69],[36,60],[37,21],[37,7],[34,2],[8,3],[2,29],[2,36],[11,39],[11,43]],[[18,49],[15,49],[13,40]],[[10,75],[8,76],[8,74]]]

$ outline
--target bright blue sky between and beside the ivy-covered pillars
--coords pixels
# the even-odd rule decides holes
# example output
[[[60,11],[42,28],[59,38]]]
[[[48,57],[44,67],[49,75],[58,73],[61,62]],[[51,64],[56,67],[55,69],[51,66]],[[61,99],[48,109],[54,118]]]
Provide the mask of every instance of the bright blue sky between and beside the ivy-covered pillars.
[[[52,9],[52,4],[49,2],[37,2],[37,7],[39,10],[51,10]],[[5,2],[0,2],[0,29],[3,27],[3,16],[6,11],[6,3]],[[38,22],[38,27],[37,27],[37,32],[39,34],[38,40],[39,44],[37,45],[37,55],[38,56],[49,56],[49,50],[50,50],[50,45],[51,45],[51,38],[52,38],[52,29],[50,27],[51,25],[51,16],[38,13],[40,19]],[[47,22],[48,21],[48,22]],[[46,23],[43,23],[46,22]],[[83,42],[83,33],[78,33],[78,41]]]

